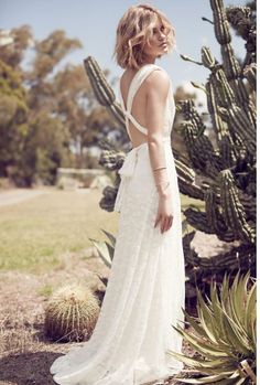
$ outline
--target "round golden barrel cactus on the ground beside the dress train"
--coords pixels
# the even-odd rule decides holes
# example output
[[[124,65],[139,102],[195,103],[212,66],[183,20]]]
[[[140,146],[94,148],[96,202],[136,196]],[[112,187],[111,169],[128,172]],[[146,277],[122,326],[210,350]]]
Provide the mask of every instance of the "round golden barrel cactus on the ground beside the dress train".
[[[87,341],[99,311],[99,300],[89,287],[77,284],[63,286],[45,307],[44,332],[56,342]]]

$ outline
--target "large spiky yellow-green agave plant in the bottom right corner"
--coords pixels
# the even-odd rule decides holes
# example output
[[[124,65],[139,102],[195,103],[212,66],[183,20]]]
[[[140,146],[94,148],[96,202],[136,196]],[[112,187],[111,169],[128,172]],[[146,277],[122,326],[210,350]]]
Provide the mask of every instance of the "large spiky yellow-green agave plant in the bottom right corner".
[[[225,274],[219,293],[216,282],[210,282],[210,299],[206,296],[208,303],[197,289],[197,318],[183,309],[194,333],[172,325],[198,355],[192,357],[167,351],[186,364],[188,368],[183,372],[196,374],[196,378],[176,376],[174,379],[188,384],[256,383],[257,282],[250,277],[250,271],[241,277],[239,270],[230,288],[229,278]],[[197,377],[198,374],[202,376]]]

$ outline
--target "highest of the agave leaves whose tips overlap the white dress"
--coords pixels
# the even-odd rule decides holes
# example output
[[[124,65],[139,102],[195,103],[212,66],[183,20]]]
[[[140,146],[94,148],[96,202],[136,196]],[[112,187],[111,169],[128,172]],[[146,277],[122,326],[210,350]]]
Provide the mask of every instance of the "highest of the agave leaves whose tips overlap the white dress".
[[[172,325],[173,329],[176,331],[180,331],[180,333],[183,335],[183,338],[201,354],[205,355],[206,357],[226,357],[229,356],[226,352],[219,350],[217,346],[213,346],[212,344],[208,344],[207,342],[197,339],[194,334],[189,334],[185,332],[184,330],[180,330],[176,327]]]

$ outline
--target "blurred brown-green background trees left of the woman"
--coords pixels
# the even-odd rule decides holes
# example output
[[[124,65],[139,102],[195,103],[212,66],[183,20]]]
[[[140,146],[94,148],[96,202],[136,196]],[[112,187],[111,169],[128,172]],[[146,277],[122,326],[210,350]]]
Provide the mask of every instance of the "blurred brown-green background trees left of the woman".
[[[36,41],[29,25],[0,30],[0,175],[18,185],[54,183],[57,167],[84,167],[84,149],[113,122],[95,100],[82,65],[57,69],[77,39],[56,30]],[[34,52],[29,68],[22,61]]]

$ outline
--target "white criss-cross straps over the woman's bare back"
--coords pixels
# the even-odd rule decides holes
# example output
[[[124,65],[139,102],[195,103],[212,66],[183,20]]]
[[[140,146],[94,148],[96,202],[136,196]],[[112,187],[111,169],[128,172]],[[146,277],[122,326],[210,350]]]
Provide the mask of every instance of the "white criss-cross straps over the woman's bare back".
[[[124,107],[124,103],[122,99],[122,94],[121,94],[121,89],[120,89],[120,83],[119,83],[119,97],[120,97],[120,101],[121,101],[121,106],[123,109],[123,113],[127,117],[127,130],[128,130],[128,135],[130,136],[129,132],[129,120],[131,120],[131,122],[133,124],[133,126],[139,129],[139,131],[141,131],[144,135],[148,135],[148,129],[143,126],[141,126],[136,118],[132,116],[131,114],[131,109],[132,109],[132,101],[133,101],[133,97],[137,94],[138,89],[140,88],[142,82],[145,79],[145,77],[148,77],[149,74],[151,74],[152,71],[154,69],[162,69],[159,65],[155,64],[145,64],[143,65],[133,76],[130,86],[129,86],[129,90],[128,90],[128,96],[127,96],[127,108]]]

